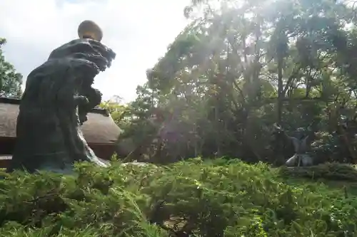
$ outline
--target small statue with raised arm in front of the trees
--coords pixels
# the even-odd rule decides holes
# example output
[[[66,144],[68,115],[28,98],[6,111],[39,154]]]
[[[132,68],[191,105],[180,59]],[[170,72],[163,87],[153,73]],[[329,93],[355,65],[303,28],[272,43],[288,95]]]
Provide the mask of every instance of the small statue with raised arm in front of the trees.
[[[302,127],[299,127],[296,130],[294,137],[288,136],[280,126],[274,125],[274,127],[277,131],[282,132],[293,144],[295,154],[286,161],[286,166],[308,167],[313,165],[313,158],[308,154],[309,135],[306,135],[306,132]]]

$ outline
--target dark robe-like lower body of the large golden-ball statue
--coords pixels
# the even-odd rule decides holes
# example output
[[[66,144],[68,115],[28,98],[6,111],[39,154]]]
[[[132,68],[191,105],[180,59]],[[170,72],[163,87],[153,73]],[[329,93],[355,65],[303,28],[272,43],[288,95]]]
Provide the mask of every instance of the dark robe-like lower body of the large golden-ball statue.
[[[54,58],[29,74],[19,107],[16,148],[9,171],[21,167],[29,172],[62,170],[79,160],[105,165],[79,128],[79,90],[89,80],[86,75],[94,77],[98,73],[94,68],[88,60]]]

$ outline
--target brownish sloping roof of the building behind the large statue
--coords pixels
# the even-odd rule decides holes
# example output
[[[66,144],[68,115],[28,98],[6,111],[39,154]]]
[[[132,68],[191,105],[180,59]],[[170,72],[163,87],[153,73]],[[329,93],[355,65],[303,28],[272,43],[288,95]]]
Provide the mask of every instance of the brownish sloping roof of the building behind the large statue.
[[[0,98],[0,137],[16,137],[16,119],[19,114],[18,99]],[[88,143],[113,144],[121,130],[109,113],[94,109],[88,114],[88,121],[81,126]]]

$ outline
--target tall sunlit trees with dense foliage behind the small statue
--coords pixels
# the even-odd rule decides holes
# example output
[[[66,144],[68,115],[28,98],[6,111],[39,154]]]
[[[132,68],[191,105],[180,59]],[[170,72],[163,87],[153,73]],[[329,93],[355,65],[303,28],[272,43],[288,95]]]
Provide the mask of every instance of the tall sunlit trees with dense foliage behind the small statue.
[[[313,152],[325,160],[357,162],[341,130],[348,120],[353,131],[356,119],[353,4],[193,0],[184,14],[191,23],[126,108],[123,139],[134,140],[136,154],[281,164],[288,151],[274,142],[276,123],[315,132]]]

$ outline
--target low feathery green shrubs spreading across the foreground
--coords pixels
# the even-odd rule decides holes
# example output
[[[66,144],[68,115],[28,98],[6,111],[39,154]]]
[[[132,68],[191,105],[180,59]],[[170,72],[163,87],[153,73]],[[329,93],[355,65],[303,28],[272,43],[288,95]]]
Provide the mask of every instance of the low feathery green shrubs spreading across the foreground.
[[[266,164],[190,159],[4,174],[0,236],[354,236],[357,200]],[[289,180],[295,181],[291,184]]]

